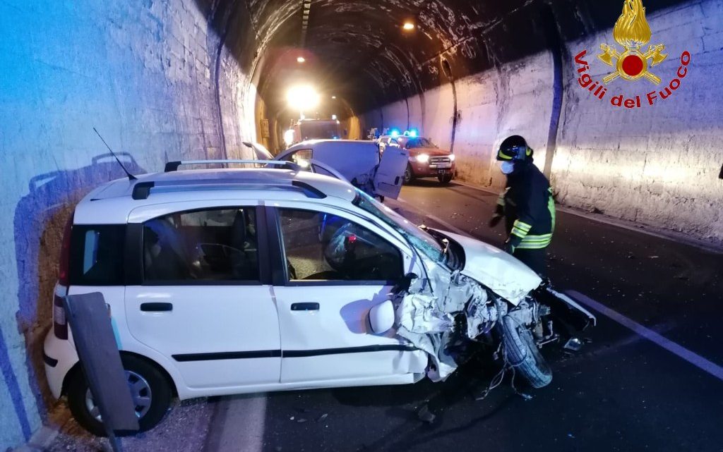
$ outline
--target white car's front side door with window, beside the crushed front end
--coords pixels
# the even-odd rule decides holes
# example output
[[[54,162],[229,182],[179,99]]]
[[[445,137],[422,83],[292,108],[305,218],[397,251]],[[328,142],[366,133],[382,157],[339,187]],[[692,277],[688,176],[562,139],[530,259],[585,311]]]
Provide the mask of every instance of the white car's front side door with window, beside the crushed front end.
[[[395,336],[375,334],[369,310],[389,293],[412,259],[377,225],[314,205],[271,209],[278,230],[274,293],[281,325],[281,382],[373,383],[423,373],[424,352]],[[329,383],[332,384],[332,383]]]

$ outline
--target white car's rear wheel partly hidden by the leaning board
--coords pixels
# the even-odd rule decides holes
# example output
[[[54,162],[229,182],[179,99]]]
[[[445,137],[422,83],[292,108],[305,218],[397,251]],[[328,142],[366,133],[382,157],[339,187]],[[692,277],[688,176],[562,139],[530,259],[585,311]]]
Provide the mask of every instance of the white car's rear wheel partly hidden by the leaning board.
[[[158,425],[168,412],[173,396],[171,383],[156,365],[140,357],[121,355],[121,362],[136,403],[140,431],[145,432]],[[70,412],[85,430],[96,436],[106,436],[106,428],[95,408],[93,396],[90,396],[85,375],[77,368],[71,377],[66,391]],[[144,403],[138,403],[140,401]]]

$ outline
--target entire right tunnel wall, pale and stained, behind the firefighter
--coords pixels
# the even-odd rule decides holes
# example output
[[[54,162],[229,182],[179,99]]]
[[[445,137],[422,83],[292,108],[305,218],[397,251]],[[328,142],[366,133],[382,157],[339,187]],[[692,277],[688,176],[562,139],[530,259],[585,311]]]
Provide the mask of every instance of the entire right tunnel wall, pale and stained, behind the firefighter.
[[[723,70],[723,2],[691,1],[650,14],[650,44],[664,43],[668,58],[651,68],[663,79],[616,80],[604,100],[578,84],[574,59],[583,50],[591,76],[611,69],[597,60],[601,43],[615,44],[612,30],[565,43],[563,98],[552,183],[562,204],[612,217],[687,232],[723,242],[723,105],[715,74]],[[666,100],[646,102],[677,78],[680,55],[691,54],[688,74]],[[497,66],[455,82],[459,120],[454,151],[463,181],[500,188],[494,165],[497,145],[521,134],[536,149],[544,168],[552,113],[552,53],[544,52]],[[614,95],[641,95],[641,108],[613,107]],[[422,105],[424,109],[422,110]],[[453,95],[442,85],[364,115],[364,127],[419,127],[440,147],[449,148]]]

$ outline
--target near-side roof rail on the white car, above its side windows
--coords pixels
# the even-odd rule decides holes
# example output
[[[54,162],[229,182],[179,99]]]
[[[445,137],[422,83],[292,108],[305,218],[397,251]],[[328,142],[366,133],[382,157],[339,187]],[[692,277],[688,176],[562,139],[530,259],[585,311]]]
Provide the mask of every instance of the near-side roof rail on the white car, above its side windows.
[[[132,199],[139,201],[148,199],[152,188],[165,189],[166,191],[183,191],[183,190],[228,190],[231,188],[282,188],[286,190],[301,191],[307,198],[324,199],[326,194],[319,188],[312,186],[304,181],[280,181],[278,183],[268,183],[268,181],[239,181],[230,179],[228,181],[219,182],[218,180],[208,181],[142,181],[137,182],[133,186],[131,194]]]

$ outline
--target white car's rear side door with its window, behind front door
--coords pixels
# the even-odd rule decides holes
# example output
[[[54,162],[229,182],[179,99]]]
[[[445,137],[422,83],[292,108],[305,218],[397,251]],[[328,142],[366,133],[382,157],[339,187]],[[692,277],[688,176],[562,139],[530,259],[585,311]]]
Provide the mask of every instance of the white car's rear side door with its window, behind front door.
[[[265,211],[182,204],[181,211],[160,204],[131,214],[129,240],[140,252],[129,270],[137,284],[125,296],[129,331],[192,391],[278,383],[281,337],[266,229],[257,227]]]

